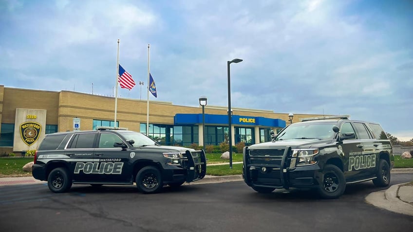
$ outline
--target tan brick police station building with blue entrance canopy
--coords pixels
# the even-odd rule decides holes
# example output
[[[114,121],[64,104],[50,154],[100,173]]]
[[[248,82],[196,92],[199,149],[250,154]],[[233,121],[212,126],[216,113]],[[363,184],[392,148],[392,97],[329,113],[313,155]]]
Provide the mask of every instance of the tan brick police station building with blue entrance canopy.
[[[194,99],[198,103],[198,99]],[[208,102],[209,104],[209,102]],[[16,89],[0,85],[0,153],[36,150],[45,134],[68,130],[94,130],[97,126],[119,126],[146,133],[147,101],[115,98],[74,91]],[[322,115],[294,113],[300,118]],[[270,130],[289,124],[288,113],[272,110],[232,108],[232,144],[270,141]],[[227,106],[176,106],[171,102],[149,102],[149,131],[162,144],[189,146],[191,143],[218,145],[228,135]],[[200,136],[201,135],[201,136]]]

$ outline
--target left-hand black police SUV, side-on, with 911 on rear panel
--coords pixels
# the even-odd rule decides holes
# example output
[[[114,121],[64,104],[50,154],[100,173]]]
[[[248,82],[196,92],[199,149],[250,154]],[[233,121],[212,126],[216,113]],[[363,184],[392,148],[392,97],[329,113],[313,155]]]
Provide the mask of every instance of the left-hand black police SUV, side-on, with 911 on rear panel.
[[[62,193],[72,184],[133,184],[150,194],[164,184],[200,180],[207,170],[204,150],[163,146],[122,128],[47,134],[34,158],[33,177]]]

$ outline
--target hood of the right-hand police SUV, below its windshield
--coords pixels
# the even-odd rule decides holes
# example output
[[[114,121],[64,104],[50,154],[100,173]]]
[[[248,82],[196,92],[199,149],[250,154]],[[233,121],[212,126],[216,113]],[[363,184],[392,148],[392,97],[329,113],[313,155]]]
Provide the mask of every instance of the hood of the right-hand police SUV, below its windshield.
[[[266,143],[257,143],[249,146],[249,149],[272,149],[272,148],[284,148],[291,146],[291,148],[317,148],[321,144],[333,143],[335,140],[319,140],[319,139],[292,139],[292,140],[279,140]]]

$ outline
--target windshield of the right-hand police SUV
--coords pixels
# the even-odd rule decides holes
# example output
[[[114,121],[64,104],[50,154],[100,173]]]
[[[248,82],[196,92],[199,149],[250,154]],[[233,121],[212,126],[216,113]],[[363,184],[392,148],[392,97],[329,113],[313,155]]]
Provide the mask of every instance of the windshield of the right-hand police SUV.
[[[281,131],[275,140],[333,139],[334,125],[334,123],[292,124]]]

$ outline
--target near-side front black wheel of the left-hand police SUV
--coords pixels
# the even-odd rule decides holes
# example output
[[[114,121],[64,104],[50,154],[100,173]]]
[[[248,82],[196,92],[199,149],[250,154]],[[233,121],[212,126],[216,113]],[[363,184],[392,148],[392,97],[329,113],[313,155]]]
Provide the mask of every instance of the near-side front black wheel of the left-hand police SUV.
[[[142,168],[136,175],[136,186],[144,194],[159,192],[163,187],[161,172],[153,166]]]

